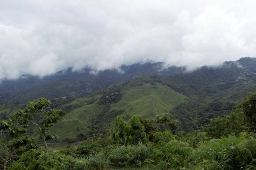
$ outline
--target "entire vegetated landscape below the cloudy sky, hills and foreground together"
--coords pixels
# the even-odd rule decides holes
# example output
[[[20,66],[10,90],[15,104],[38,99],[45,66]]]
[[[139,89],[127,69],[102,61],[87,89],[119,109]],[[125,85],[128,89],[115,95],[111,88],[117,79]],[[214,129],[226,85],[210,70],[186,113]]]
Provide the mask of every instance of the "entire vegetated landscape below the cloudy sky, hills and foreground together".
[[[1,86],[0,169],[255,170],[256,93],[242,97],[256,91],[256,59],[238,62]],[[36,96],[51,108],[21,104]]]

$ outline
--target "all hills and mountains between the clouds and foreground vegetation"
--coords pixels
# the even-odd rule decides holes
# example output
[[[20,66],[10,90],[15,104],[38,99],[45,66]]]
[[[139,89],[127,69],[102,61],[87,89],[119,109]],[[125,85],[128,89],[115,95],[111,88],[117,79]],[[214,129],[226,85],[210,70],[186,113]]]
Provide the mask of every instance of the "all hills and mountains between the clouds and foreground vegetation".
[[[169,112],[180,129],[201,129],[210,118],[229,114],[249,92],[256,92],[256,58],[245,57],[219,66],[202,66],[194,71],[144,63],[105,70],[71,68],[45,78],[26,75],[0,84],[0,118],[39,97],[51,99],[53,108],[67,111],[52,131],[59,141],[74,142],[103,133],[119,114],[154,119]],[[121,95],[120,95],[121,94]]]

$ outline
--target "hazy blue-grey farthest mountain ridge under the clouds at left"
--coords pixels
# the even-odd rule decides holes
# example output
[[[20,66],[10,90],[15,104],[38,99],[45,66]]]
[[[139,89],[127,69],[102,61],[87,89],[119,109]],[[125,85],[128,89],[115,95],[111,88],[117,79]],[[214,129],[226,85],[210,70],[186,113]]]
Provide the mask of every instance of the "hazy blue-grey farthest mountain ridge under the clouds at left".
[[[141,76],[155,74],[181,73],[185,70],[184,67],[175,66],[162,69],[163,65],[164,63],[161,62],[122,65],[121,71],[112,69],[97,74],[94,74],[91,69],[72,72],[72,68],[68,68],[44,78],[23,75],[17,80],[2,80],[0,82],[0,103],[8,101],[26,103],[39,97],[49,99],[83,97],[121,81],[131,81]]]

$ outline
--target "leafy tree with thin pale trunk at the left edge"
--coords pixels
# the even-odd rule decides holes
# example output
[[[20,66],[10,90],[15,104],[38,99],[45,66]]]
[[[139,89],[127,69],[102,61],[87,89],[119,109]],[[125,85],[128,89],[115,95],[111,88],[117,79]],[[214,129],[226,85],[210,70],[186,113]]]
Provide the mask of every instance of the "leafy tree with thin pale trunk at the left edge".
[[[10,141],[10,147],[24,148],[28,150],[37,147],[37,144],[28,134],[28,129],[37,127],[36,132],[44,141],[45,151],[48,152],[47,140],[54,139],[56,135],[46,134],[66,114],[62,110],[49,108],[51,101],[39,98],[27,104],[25,109],[19,109],[11,114],[5,121],[0,121],[1,133],[6,133]]]

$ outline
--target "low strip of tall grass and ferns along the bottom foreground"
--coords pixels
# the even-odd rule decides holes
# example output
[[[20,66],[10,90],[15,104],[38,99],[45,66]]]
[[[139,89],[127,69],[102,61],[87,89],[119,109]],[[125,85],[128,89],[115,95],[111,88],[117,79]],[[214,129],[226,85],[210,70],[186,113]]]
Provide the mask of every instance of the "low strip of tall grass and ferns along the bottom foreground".
[[[86,144],[84,144],[86,145]],[[193,149],[187,142],[138,143],[102,147],[82,157],[63,153],[48,154],[30,150],[14,163],[14,170],[147,168],[190,170],[253,170],[256,168],[256,138],[243,133],[239,137],[203,141]]]

